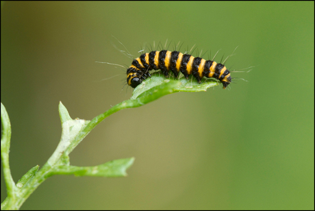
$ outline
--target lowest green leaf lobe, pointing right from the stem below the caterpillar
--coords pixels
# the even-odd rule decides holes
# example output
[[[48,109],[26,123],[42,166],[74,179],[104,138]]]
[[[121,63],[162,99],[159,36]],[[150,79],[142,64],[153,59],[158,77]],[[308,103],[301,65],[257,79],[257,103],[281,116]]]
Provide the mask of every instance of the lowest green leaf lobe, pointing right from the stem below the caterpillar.
[[[112,160],[98,166],[58,166],[54,174],[94,177],[123,177],[127,176],[126,170],[134,163],[134,158]]]

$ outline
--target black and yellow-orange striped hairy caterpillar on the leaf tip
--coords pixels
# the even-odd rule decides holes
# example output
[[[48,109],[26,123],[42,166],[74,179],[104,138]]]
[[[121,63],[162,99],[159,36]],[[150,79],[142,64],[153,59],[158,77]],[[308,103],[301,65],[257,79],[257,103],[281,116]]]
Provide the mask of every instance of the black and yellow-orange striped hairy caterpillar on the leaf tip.
[[[127,69],[127,84],[136,88],[147,77],[151,77],[149,71],[153,69],[160,69],[165,77],[169,76],[169,71],[175,77],[178,77],[181,72],[186,79],[189,75],[193,75],[199,84],[203,77],[214,77],[223,84],[224,89],[231,83],[230,72],[224,64],[199,57],[194,58],[192,55],[179,51],[162,50],[143,53],[139,58],[133,60]]]

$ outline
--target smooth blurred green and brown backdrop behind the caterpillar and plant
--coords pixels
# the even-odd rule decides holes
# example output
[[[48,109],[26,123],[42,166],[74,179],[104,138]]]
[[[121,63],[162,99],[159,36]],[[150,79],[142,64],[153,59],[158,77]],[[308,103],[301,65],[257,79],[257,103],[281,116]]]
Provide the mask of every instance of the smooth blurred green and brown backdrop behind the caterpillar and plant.
[[[166,39],[170,50],[179,41],[181,51],[220,49],[217,61],[238,47],[227,67],[255,68],[234,73],[249,82],[230,89],[167,95],[108,117],[71,164],[134,156],[128,177],[53,176],[22,209],[314,209],[312,1],[5,2],[1,101],[15,181],[58,145],[59,101],[71,117],[92,119],[131,97],[125,69],[95,62],[131,64],[112,36],[136,57]]]

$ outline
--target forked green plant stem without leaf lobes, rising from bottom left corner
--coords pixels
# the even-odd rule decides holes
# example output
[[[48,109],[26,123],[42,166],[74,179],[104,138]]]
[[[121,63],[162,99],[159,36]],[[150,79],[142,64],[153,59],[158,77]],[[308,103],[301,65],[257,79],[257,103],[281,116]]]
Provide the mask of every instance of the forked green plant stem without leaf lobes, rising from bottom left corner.
[[[8,114],[6,113],[6,111],[3,112],[5,108],[1,103],[1,120],[3,123],[3,134],[1,138],[1,157],[3,160],[3,174],[5,176],[5,184],[7,184],[8,190],[8,197],[7,199],[5,199],[5,202],[7,200],[8,202],[5,203],[5,206],[1,208],[8,210],[17,210],[18,208],[20,208],[25,200],[29,197],[29,195],[31,195],[31,193],[33,193],[34,190],[36,190],[36,188],[45,181],[45,179],[53,175],[55,171],[55,166],[58,165],[59,162],[61,162],[61,160],[64,158],[64,155],[70,153],[96,125],[98,125],[106,117],[114,114],[115,112],[118,112],[119,110],[131,107],[138,107],[140,105],[142,105],[142,102],[138,99],[123,101],[122,103],[118,103],[114,107],[110,108],[110,110],[108,110],[107,112],[100,114],[99,116],[92,119],[92,121],[90,121],[90,123],[84,128],[84,130],[77,134],[77,136],[75,137],[75,141],[71,142],[71,146],[68,147],[67,153],[60,154],[58,158],[53,159],[52,164],[49,164],[47,162],[44,166],[42,166],[42,169],[40,169],[34,175],[34,177],[31,177],[29,181],[21,189],[19,189],[16,187],[16,184],[14,183],[10,173],[8,151],[10,147],[11,127],[10,121],[8,121]],[[18,197],[16,197],[17,195]]]

